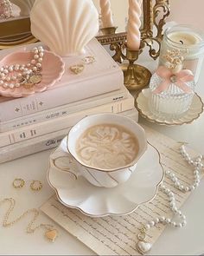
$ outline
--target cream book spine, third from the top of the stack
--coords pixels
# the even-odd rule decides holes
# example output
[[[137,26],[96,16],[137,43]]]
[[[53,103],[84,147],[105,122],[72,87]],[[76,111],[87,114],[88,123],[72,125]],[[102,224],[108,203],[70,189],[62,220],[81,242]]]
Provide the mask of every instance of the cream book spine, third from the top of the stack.
[[[52,133],[54,131],[66,128],[67,125],[72,127],[74,123],[80,121],[80,119],[86,115],[104,112],[119,113],[132,108],[134,108],[134,98],[130,95],[127,99],[119,102],[112,102],[96,108],[89,108],[68,116],[62,116],[54,120],[43,121],[35,125],[30,125],[29,127],[18,128],[10,132],[2,133],[0,135],[0,147],[14,144],[19,141],[26,141],[40,135]]]

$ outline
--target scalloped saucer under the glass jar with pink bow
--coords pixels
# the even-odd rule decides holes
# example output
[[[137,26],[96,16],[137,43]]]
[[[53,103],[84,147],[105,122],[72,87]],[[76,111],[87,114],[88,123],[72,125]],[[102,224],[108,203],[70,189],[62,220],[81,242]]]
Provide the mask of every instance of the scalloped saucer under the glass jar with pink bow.
[[[204,104],[201,100],[201,97],[194,94],[193,102],[190,108],[188,109],[186,114],[182,115],[180,118],[169,118],[162,114],[156,115],[150,111],[150,108],[148,106],[148,97],[145,96],[146,90],[148,89],[143,89],[142,92],[137,95],[136,108],[139,114],[150,122],[155,122],[157,124],[167,126],[189,124],[192,123],[194,120],[198,119],[203,112]]]

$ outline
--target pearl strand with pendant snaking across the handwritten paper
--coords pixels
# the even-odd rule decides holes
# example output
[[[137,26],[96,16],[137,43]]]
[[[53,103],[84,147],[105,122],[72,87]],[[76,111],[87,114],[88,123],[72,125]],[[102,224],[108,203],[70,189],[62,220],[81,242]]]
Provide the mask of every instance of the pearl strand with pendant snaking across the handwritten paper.
[[[201,182],[200,172],[201,172],[201,169],[204,168],[204,165],[201,163],[203,156],[200,155],[193,161],[190,158],[189,154],[187,153],[184,145],[182,145],[182,147],[180,148],[180,154],[182,154],[182,157],[186,161],[188,161],[188,164],[190,164],[191,166],[194,166],[194,183],[193,183],[193,185],[191,185],[190,187],[182,186],[180,181],[178,181],[178,178],[175,177],[175,174],[173,174],[169,170],[166,171],[166,175],[169,177],[169,179],[171,181],[173,181],[175,187],[178,190],[182,191],[183,193],[187,193],[187,192],[193,191],[195,188],[197,188]],[[148,232],[148,230],[150,230],[151,227],[156,226],[156,224],[159,224],[159,223],[162,223],[163,225],[174,226],[174,227],[184,227],[187,225],[186,216],[182,213],[182,211],[178,210],[178,208],[175,205],[175,194],[172,191],[170,191],[169,188],[165,187],[163,184],[160,186],[160,190],[164,194],[167,194],[167,196],[169,197],[169,207],[170,207],[171,211],[173,213],[175,213],[175,215],[177,215],[181,219],[181,222],[176,223],[175,221],[162,216],[162,217],[156,218],[156,219],[151,220],[150,222],[144,224],[143,228],[140,230],[140,233],[137,234],[137,239],[138,239],[137,251],[141,254],[148,253],[152,247],[152,245],[150,243],[145,241],[146,233]]]

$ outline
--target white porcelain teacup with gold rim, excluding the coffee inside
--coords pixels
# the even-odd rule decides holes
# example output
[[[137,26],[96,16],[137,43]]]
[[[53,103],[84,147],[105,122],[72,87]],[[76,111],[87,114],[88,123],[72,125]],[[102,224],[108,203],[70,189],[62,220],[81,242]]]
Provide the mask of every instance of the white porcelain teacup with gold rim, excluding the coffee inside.
[[[87,166],[83,161],[80,160],[76,152],[76,143],[88,128],[100,124],[114,124],[123,126],[124,128],[131,131],[136,136],[138,141],[138,154],[136,158],[127,166],[121,166],[115,169],[105,170],[99,167]],[[89,115],[86,118],[79,121],[69,132],[67,136],[67,152],[74,161],[69,161],[69,172],[71,172],[76,179],[79,176],[83,176],[92,185],[97,187],[116,187],[118,184],[127,181],[131,174],[137,167],[137,161],[144,154],[147,149],[146,135],[142,127],[140,127],[136,121],[123,115],[115,114],[99,114]],[[74,167],[75,166],[75,169]],[[77,168],[77,169],[76,169]]]

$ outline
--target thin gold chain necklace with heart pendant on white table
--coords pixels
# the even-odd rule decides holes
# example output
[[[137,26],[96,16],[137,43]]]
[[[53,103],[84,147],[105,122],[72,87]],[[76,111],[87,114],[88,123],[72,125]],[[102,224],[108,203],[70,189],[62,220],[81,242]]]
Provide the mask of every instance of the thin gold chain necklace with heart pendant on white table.
[[[58,236],[58,231],[54,228],[53,225],[41,223],[38,226],[32,227],[34,225],[35,221],[37,220],[38,216],[40,215],[39,210],[29,209],[28,211],[22,213],[22,215],[20,215],[18,218],[16,218],[16,220],[9,221],[10,213],[12,213],[12,211],[14,210],[14,207],[16,205],[16,200],[14,200],[13,198],[5,198],[2,201],[0,201],[0,205],[2,205],[3,203],[8,203],[8,202],[10,203],[10,207],[9,207],[8,211],[5,213],[5,216],[3,218],[3,226],[4,227],[13,226],[14,224],[16,224],[16,222],[18,222],[19,220],[22,220],[22,218],[24,216],[28,215],[29,213],[34,213],[33,219],[30,220],[29,225],[27,226],[26,233],[35,233],[36,229],[44,228],[44,229],[46,229],[46,232],[44,233],[45,237],[48,240],[54,242],[54,240]]]

